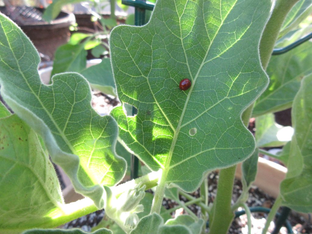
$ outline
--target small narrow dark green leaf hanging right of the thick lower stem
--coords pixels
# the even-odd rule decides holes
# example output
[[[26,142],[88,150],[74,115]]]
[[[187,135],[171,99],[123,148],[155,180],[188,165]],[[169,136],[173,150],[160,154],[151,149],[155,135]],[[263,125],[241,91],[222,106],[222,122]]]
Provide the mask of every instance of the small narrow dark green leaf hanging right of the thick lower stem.
[[[242,184],[246,188],[246,191],[256,179],[258,169],[258,154],[259,149],[256,148],[255,152],[251,154],[251,156],[247,158],[241,165]]]

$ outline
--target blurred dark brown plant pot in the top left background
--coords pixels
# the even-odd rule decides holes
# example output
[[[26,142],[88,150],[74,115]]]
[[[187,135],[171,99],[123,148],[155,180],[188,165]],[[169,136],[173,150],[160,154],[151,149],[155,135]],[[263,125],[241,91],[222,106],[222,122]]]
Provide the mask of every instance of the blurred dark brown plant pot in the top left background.
[[[69,26],[76,22],[75,16],[61,12],[55,20],[46,22],[41,19],[44,9],[15,7],[8,10],[0,7],[0,12],[10,17],[30,38],[37,48],[42,61],[53,60],[56,48],[67,43],[70,38]]]

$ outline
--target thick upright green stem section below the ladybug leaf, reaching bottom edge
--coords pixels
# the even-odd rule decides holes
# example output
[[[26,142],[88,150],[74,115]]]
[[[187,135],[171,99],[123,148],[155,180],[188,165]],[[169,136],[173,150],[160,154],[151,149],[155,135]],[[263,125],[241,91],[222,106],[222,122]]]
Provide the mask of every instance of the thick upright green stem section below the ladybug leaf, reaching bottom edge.
[[[209,234],[226,234],[234,219],[231,209],[236,165],[220,170],[217,195],[214,200]]]

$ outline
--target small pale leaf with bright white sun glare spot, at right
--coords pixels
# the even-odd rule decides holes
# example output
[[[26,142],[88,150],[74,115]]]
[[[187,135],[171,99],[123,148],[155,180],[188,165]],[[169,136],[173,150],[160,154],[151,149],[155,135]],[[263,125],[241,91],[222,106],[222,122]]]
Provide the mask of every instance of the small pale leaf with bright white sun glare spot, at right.
[[[291,140],[294,129],[283,127],[275,122],[273,114],[261,115],[256,118],[256,146],[279,147]]]

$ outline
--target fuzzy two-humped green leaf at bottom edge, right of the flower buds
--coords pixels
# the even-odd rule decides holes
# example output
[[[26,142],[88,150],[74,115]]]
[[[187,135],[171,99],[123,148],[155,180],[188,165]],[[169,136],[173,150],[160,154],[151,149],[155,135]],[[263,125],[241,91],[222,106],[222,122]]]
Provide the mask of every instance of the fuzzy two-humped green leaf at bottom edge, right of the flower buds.
[[[183,225],[165,226],[163,224],[162,217],[160,217],[156,213],[143,217],[138,223],[137,227],[130,232],[130,234],[168,234],[168,233],[194,234],[188,227]]]

